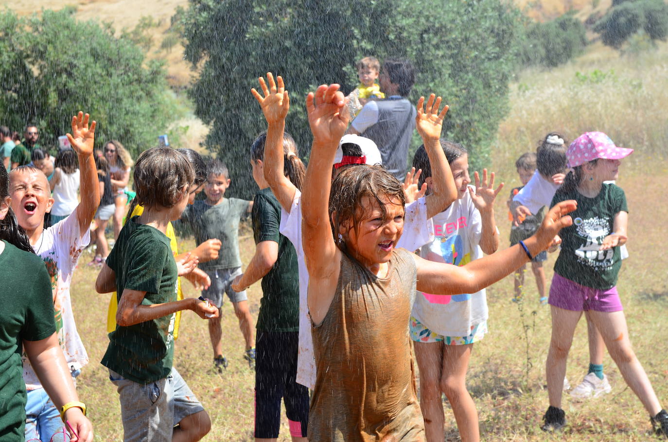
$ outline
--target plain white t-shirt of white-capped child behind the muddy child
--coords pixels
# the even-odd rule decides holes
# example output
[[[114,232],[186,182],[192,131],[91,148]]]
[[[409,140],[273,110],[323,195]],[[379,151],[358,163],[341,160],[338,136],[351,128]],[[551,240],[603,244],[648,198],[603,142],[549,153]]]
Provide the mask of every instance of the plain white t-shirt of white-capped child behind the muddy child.
[[[403,234],[397,248],[415,250],[434,240],[434,225],[427,218],[425,197],[407,204],[403,221]],[[299,265],[299,353],[297,353],[297,383],[313,389],[315,386],[315,357],[311,336],[311,317],[307,294],[309,291],[309,270],[306,268],[304,248],[301,240],[301,192],[295,190],[290,213],[281,209],[279,232],[288,238],[297,251]]]

